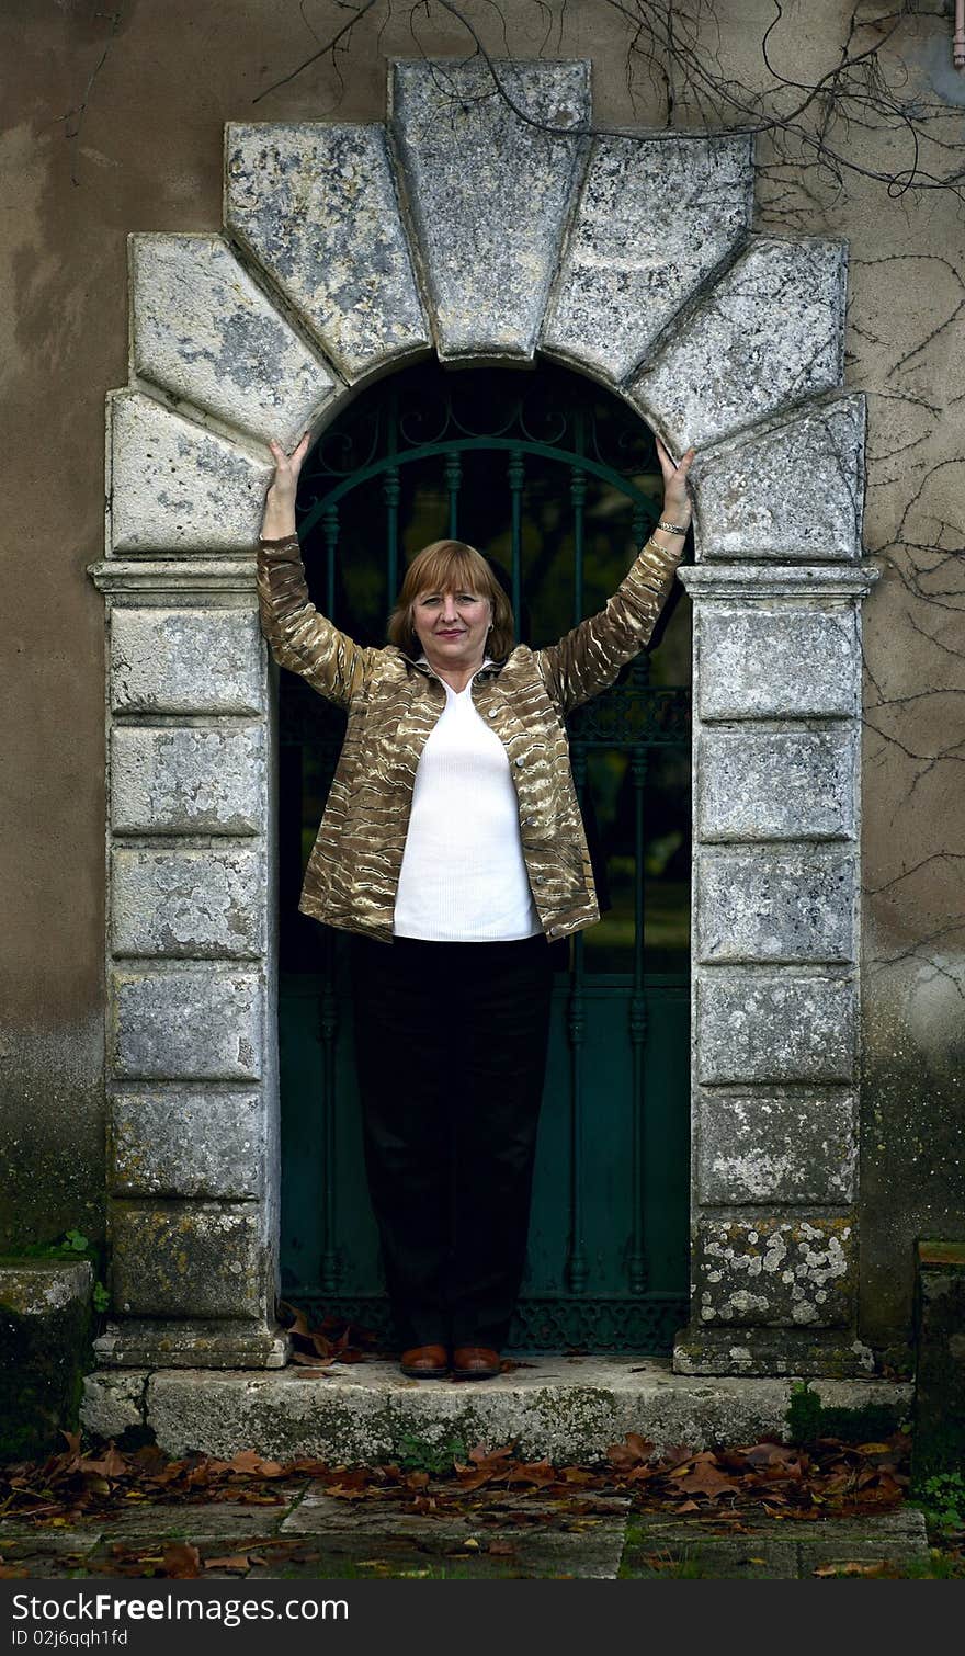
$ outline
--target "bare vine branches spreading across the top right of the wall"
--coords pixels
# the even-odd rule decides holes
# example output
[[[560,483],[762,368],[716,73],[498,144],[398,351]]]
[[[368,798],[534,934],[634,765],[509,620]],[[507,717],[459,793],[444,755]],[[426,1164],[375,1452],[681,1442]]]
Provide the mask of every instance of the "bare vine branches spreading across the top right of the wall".
[[[932,8],[920,0],[892,5],[856,0],[841,17],[839,38],[828,38],[826,68],[804,79],[795,66],[801,60],[801,30],[808,31],[809,45],[814,41],[808,7],[799,0],[770,0],[771,17],[761,30],[753,81],[725,63],[725,41],[737,23],[733,15],[728,20],[732,0],[598,0],[598,5],[601,18],[606,15],[607,23],[616,22],[622,30],[634,109],[646,89],[647,109],[655,96],[669,131],[727,128],[766,134],[776,162],[793,166],[798,174],[814,171],[824,185],[841,189],[846,176],[854,174],[886,185],[891,195],[942,190],[965,200],[962,116],[957,106],[917,91],[909,63],[920,23],[925,18],[943,23],[947,7],[940,0]],[[319,0],[314,7],[300,0],[300,12],[316,40],[314,51],[265,86],[253,103],[321,63],[334,70],[343,86],[353,35],[366,18],[377,18],[379,35],[389,22],[401,20],[415,51],[427,60],[437,56],[439,25],[455,23],[467,58],[485,65],[492,91],[528,126],[568,139],[612,132],[594,124],[541,121],[516,96],[510,22],[541,26],[540,55],[561,53],[568,0],[492,0],[483,8],[470,0]],[[329,20],[334,13],[338,22],[319,33],[311,22],[319,13]],[[454,101],[463,101],[465,91],[447,81],[439,61],[434,75]],[[626,128],[619,136],[627,136]]]

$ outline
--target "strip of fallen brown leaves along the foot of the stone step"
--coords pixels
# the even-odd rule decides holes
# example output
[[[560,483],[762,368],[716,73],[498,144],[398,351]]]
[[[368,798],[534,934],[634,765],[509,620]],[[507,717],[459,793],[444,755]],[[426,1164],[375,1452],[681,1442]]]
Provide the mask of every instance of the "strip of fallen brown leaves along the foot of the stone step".
[[[230,1461],[204,1454],[172,1459],[154,1446],[132,1452],[116,1444],[84,1451],[79,1434],[63,1436],[66,1447],[46,1461],[0,1469],[0,1515],[15,1519],[18,1528],[109,1522],[136,1502],[177,1505],[185,1517],[194,1504],[281,1505],[291,1502],[293,1485],[301,1480],[346,1505],[364,1502],[369,1509],[440,1520],[472,1514],[477,1524],[485,1524],[492,1510],[505,1524],[510,1507],[516,1524],[551,1525],[593,1514],[607,1497],[624,1495],[631,1512],[705,1514],[727,1527],[750,1514],[795,1520],[879,1514],[900,1505],[909,1484],[904,1432],[857,1446],[818,1439],[793,1447],[765,1439],[702,1451],[680,1444],[659,1454],[652,1442],[631,1432],[593,1466],[526,1462],[516,1459],[513,1444],[497,1449],[478,1444],[445,1472],[394,1462],[364,1467],[306,1459],[278,1462],[253,1451]],[[177,1548],[169,1553],[167,1562],[159,1560],[164,1568],[157,1573],[179,1573],[185,1565]],[[223,1567],[223,1558],[207,1558],[207,1567]],[[195,1568],[200,1568],[197,1560]]]

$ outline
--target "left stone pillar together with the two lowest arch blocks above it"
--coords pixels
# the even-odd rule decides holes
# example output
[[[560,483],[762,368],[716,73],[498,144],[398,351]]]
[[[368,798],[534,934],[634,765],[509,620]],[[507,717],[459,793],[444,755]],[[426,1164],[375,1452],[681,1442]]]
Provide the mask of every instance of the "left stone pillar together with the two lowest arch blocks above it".
[[[218,235],[132,235],[108,396],[106,1365],[275,1368],[275,669],[268,437],[344,389]]]

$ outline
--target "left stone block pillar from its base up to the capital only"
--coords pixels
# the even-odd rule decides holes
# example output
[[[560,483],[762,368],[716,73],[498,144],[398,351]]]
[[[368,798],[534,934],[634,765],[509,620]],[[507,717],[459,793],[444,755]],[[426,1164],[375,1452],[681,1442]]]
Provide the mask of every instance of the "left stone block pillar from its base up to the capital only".
[[[275,1368],[268,652],[253,556],[108,558],[103,1363]]]

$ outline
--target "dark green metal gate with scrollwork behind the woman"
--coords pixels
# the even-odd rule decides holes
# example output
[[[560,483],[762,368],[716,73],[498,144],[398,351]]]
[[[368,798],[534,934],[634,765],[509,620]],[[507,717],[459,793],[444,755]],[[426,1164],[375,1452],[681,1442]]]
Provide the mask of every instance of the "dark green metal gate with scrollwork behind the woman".
[[[646,426],[564,369],[397,374],[303,470],[313,601],[384,643],[412,553],[485,550],[520,636],[599,609],[660,507]],[[687,1312],[690,606],[568,720],[603,919],[555,944],[551,1048],[526,1273],[510,1346],[667,1353]],[[659,646],[659,647],[657,647]],[[281,674],[281,1282],[316,1318],[391,1338],[353,1066],[346,937],[298,914],[344,715]]]

